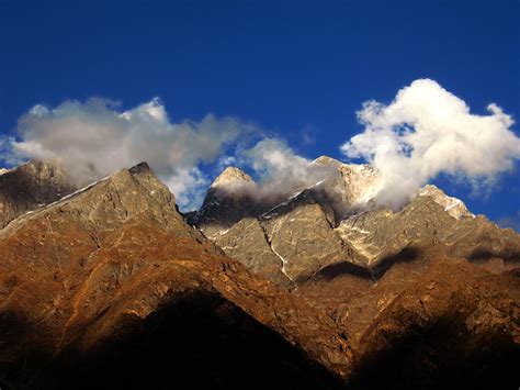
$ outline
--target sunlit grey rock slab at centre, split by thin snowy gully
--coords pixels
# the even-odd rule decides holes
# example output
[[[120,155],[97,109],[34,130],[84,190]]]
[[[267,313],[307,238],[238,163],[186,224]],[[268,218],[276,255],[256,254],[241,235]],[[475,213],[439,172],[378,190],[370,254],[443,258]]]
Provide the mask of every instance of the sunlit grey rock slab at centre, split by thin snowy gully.
[[[269,219],[245,218],[208,237],[231,258],[282,285],[307,279],[344,252],[317,203]]]

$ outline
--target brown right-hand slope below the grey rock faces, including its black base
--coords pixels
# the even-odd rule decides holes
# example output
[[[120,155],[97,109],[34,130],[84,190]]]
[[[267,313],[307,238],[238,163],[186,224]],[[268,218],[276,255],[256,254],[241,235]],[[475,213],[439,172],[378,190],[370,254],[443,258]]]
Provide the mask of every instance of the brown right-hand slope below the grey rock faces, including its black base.
[[[494,275],[445,252],[410,247],[378,278],[346,263],[294,291],[344,330],[355,355],[352,388],[516,383],[520,274]]]

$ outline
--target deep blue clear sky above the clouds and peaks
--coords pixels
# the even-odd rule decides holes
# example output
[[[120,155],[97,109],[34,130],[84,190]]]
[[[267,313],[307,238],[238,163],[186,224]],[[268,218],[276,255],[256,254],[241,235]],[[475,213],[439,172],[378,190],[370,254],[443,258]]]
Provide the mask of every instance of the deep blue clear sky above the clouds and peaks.
[[[0,0],[0,133],[35,103],[158,96],[172,120],[236,115],[341,157],[362,102],[417,78],[517,118],[519,43],[520,1]],[[442,185],[499,220],[519,213],[519,179],[487,200]]]

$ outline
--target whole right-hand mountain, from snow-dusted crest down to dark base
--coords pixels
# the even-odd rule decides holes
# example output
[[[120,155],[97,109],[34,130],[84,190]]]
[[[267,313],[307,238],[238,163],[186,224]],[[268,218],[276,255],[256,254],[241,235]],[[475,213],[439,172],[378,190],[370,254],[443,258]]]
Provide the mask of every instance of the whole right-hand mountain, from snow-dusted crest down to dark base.
[[[246,203],[221,190],[211,223],[204,208],[194,222],[229,257],[336,322],[354,354],[351,388],[515,386],[520,236],[434,186],[393,211],[372,201],[370,166],[314,164],[337,172],[225,223],[229,204]]]

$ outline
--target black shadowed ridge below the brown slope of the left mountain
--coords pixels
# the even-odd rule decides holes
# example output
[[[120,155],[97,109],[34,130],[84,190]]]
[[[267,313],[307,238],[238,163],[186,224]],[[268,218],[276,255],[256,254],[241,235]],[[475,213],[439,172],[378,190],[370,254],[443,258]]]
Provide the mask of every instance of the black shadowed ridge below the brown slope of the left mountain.
[[[24,356],[2,389],[341,387],[339,378],[217,293],[181,296],[145,320],[127,316],[116,335],[87,352],[69,346],[54,357]]]

